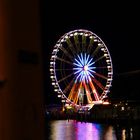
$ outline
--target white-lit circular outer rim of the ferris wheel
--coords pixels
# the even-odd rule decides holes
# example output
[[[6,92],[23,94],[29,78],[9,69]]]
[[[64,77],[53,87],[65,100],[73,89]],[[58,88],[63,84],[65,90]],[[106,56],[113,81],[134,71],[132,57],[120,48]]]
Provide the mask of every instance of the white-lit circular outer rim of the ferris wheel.
[[[61,43],[65,40],[65,38],[66,37],[69,37],[70,35],[72,35],[72,34],[74,34],[74,33],[77,33],[77,32],[81,32],[81,33],[83,33],[83,34],[86,34],[86,33],[89,33],[91,36],[94,36],[94,37],[96,37],[102,44],[103,44],[103,46],[104,46],[104,48],[106,49],[106,51],[107,51],[107,54],[108,54],[108,56],[109,56],[109,60],[110,60],[110,62],[109,62],[109,64],[110,64],[110,67],[111,67],[111,72],[110,72],[110,81],[108,82],[109,83],[109,85],[107,85],[107,86],[109,86],[108,88],[107,88],[107,90],[105,91],[104,90],[104,93],[102,93],[102,95],[104,95],[104,96],[106,96],[107,95],[107,93],[108,93],[108,90],[109,90],[109,88],[110,88],[110,86],[111,86],[111,82],[112,82],[112,77],[113,77],[113,65],[112,65],[112,60],[111,60],[111,55],[110,55],[110,52],[109,52],[109,50],[108,50],[108,48],[107,48],[107,46],[105,45],[105,43],[104,43],[104,41],[99,37],[99,36],[97,36],[95,33],[93,33],[93,32],[91,32],[91,31],[89,31],[89,30],[85,30],[85,29],[78,29],[78,30],[73,30],[73,31],[70,31],[70,32],[68,32],[68,33],[66,33],[66,34],[64,34],[58,41],[57,41],[57,43],[56,43],[56,45],[54,46],[54,49],[53,49],[53,55],[52,55],[52,57],[51,57],[51,59],[52,58],[54,58],[53,59],[53,61],[51,61],[51,63],[53,64],[53,72],[54,72],[54,74],[53,74],[53,80],[55,81],[55,86],[57,86],[57,89],[55,89],[55,91],[56,92],[58,92],[58,95],[60,95],[60,97],[62,98],[62,101],[64,101],[64,102],[67,102],[67,103],[69,103],[69,104],[73,104],[73,102],[70,100],[70,99],[68,99],[68,97],[63,93],[63,91],[62,91],[62,89],[61,89],[61,87],[60,87],[60,85],[59,85],[59,82],[58,82],[58,79],[57,79],[57,74],[56,74],[56,68],[55,68],[55,59],[57,58],[57,53],[58,53],[58,51],[59,51],[59,47],[62,45]],[[54,51],[55,50],[55,51]],[[62,61],[62,60],[61,60]],[[64,60],[63,60],[64,61]],[[103,96],[101,95],[101,98],[100,98],[100,100],[103,100]],[[63,100],[64,99],[64,100]],[[79,105],[77,105],[77,104],[75,104],[75,106],[79,106]],[[83,105],[83,107],[84,107],[84,105]],[[86,105],[85,105],[85,107],[86,107]]]

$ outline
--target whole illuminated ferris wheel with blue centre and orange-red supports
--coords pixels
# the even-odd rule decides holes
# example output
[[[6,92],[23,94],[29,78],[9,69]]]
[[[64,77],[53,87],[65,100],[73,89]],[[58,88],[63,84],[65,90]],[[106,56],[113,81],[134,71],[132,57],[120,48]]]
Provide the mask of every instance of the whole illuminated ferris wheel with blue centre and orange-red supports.
[[[103,103],[111,87],[109,50],[95,33],[78,29],[64,34],[53,48],[50,78],[65,105],[90,109]]]

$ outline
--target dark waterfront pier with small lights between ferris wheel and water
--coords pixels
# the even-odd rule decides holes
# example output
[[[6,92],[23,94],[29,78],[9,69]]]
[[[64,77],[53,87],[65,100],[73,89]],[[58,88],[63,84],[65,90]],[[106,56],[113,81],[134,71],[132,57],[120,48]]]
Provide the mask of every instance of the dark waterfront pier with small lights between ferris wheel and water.
[[[46,111],[46,120],[76,120],[81,122],[99,122],[110,124],[140,124],[140,106],[118,103],[98,105],[91,110],[74,111],[72,109],[50,109]]]

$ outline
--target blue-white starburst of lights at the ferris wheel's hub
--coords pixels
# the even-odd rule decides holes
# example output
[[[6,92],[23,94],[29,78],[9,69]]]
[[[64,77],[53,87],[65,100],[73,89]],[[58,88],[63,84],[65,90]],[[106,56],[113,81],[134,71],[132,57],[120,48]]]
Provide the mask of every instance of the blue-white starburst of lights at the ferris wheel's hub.
[[[96,67],[94,66],[94,61],[93,58],[90,57],[90,55],[84,53],[77,55],[77,58],[74,59],[74,74],[76,75],[75,82],[78,81],[83,81],[86,79],[88,82],[91,77],[94,77],[95,69]]]

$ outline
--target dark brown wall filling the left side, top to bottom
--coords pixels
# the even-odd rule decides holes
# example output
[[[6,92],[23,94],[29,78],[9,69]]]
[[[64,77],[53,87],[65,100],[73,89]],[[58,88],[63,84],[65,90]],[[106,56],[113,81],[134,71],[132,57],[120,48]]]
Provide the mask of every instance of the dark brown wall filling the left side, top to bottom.
[[[0,0],[0,139],[43,140],[38,0]]]

